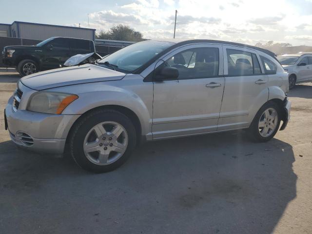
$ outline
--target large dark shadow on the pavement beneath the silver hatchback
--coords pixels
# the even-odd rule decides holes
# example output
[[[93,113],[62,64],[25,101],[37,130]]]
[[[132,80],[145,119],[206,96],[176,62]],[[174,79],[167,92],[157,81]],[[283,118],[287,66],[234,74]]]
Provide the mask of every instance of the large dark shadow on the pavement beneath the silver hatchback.
[[[243,131],[148,142],[106,174],[11,141],[0,152],[5,231],[266,234],[296,196],[292,146]]]

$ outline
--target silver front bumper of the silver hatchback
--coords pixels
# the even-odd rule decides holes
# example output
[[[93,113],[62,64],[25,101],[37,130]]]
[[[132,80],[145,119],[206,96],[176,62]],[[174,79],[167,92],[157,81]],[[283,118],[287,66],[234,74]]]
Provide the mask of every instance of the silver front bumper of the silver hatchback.
[[[22,148],[39,153],[62,154],[70,128],[80,115],[51,115],[12,109],[13,98],[5,108],[10,137]]]

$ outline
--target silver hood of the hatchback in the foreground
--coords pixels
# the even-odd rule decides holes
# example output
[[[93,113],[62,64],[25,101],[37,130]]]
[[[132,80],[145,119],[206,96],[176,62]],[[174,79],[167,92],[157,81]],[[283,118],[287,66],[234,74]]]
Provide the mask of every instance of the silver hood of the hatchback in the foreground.
[[[59,68],[35,73],[20,79],[25,86],[44,90],[61,86],[119,80],[126,74],[92,64]]]

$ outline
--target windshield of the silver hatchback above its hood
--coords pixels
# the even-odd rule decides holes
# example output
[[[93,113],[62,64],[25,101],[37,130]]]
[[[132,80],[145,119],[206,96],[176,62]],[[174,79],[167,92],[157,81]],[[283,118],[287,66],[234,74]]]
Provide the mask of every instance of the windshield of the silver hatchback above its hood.
[[[167,41],[152,40],[137,42],[105,57],[99,63],[108,61],[109,64],[116,67],[116,70],[133,72],[173,44]]]

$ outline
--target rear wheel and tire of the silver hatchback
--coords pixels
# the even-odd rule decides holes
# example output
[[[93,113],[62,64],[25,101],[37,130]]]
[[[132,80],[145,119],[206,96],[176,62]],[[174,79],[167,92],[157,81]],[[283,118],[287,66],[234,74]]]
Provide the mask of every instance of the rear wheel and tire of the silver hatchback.
[[[264,104],[254,117],[249,133],[256,142],[271,140],[279,129],[280,107],[273,101]]]

